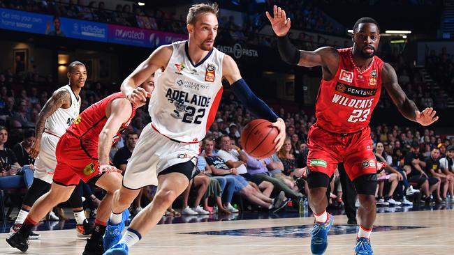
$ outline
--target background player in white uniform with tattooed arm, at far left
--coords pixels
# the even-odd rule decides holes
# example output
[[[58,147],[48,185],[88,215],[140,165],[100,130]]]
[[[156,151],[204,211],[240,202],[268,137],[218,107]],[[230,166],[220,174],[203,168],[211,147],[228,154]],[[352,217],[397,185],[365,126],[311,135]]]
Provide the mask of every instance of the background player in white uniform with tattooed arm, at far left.
[[[36,142],[30,149],[31,157],[36,158],[34,166],[34,181],[24,197],[22,208],[17,215],[15,223],[11,226],[10,233],[20,229],[25,218],[29,214],[35,201],[49,190],[52,183],[54,169],[57,166],[55,148],[61,135],[66,132],[74,118],[80,111],[80,90],[85,86],[87,70],[85,65],[78,61],[68,65],[68,80],[66,86],[62,86],[52,93],[47,100],[36,121]],[[77,222],[76,229],[79,237],[89,235],[91,230],[82,206],[80,190],[75,189],[68,200],[73,206],[74,217]],[[39,239],[40,235],[32,233],[29,239]]]

